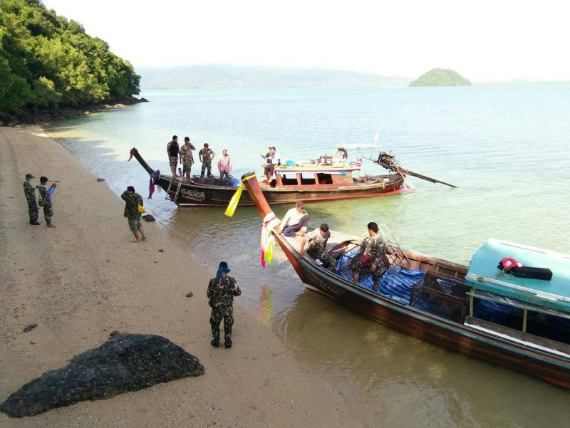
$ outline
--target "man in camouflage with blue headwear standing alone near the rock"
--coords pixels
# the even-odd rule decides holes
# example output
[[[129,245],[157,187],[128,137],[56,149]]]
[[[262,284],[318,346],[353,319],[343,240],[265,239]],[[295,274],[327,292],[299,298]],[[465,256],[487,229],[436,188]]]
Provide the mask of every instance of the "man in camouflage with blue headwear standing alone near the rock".
[[[207,296],[212,315],[209,323],[212,326],[212,346],[219,348],[219,325],[224,320],[224,346],[232,348],[232,325],[234,325],[234,296],[240,296],[242,291],[237,286],[236,280],[227,276],[229,267],[225,261],[218,266],[216,278],[209,280]]]

